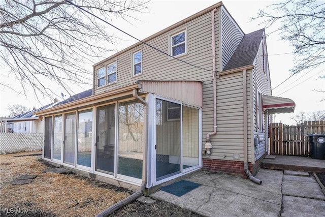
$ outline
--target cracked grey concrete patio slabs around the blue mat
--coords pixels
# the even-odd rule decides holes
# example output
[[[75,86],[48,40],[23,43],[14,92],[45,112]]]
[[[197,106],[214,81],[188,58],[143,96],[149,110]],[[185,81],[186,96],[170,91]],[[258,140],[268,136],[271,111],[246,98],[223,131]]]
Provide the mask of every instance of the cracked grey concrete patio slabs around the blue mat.
[[[294,174],[292,174],[294,173]],[[202,184],[177,197],[164,191],[150,196],[203,216],[324,216],[325,196],[308,173],[261,169],[261,185],[241,176],[199,171],[186,180]]]

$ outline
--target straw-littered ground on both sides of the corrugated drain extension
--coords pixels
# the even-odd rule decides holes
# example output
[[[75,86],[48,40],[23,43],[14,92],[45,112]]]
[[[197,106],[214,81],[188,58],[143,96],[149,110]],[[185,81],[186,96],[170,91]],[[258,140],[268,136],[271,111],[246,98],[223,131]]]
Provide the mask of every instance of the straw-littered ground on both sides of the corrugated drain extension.
[[[76,174],[44,173],[54,168],[40,156],[0,159],[1,216],[94,216],[133,192]],[[37,175],[30,183],[13,185],[21,175]],[[148,205],[134,201],[113,216],[201,216],[164,201]]]

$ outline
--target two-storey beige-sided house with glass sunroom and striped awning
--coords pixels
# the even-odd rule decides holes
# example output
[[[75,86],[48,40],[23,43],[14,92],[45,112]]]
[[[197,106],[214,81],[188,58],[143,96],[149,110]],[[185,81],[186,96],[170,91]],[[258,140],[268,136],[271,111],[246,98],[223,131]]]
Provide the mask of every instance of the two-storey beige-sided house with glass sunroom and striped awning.
[[[270,114],[295,108],[272,97],[264,29],[245,35],[220,2],[143,42],[156,49],[93,66],[91,96],[35,112],[43,158],[147,189],[202,168],[256,174]]]

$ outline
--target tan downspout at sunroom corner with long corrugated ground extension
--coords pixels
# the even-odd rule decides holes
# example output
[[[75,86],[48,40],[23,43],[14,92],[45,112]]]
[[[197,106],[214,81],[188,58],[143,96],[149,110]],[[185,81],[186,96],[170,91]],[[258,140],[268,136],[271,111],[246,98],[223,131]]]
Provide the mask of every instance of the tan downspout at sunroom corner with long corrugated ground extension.
[[[143,129],[145,129],[145,133],[144,133],[144,136],[145,136],[145,148],[144,148],[144,152],[143,152],[143,161],[142,161],[142,183],[141,183],[141,187],[140,187],[140,190],[138,190],[134,194],[128,196],[127,198],[115,203],[114,205],[112,205],[108,209],[106,209],[103,212],[101,212],[100,214],[96,215],[96,217],[104,217],[104,216],[109,216],[110,214],[113,214],[113,212],[115,212],[116,210],[122,208],[123,206],[131,203],[132,201],[134,201],[138,197],[140,197],[143,194],[143,192],[145,191],[145,189],[146,189],[146,185],[147,185],[147,161],[148,161],[148,157],[147,157],[147,152],[148,152],[148,135],[147,135],[148,104],[147,104],[147,102],[145,100],[143,100],[142,98],[140,98],[138,96],[138,90],[137,89],[133,89],[132,94],[133,94],[134,98],[139,100],[144,105],[144,109],[145,109],[145,119],[144,119],[145,121],[144,121],[144,126],[143,126]]]

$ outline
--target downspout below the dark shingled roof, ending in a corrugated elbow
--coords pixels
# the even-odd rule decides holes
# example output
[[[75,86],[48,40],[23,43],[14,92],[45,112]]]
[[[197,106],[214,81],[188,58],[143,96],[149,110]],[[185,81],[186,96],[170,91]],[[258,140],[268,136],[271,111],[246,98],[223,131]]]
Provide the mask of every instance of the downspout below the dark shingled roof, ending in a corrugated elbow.
[[[248,142],[247,142],[247,84],[246,84],[246,70],[243,70],[243,106],[244,106],[244,171],[248,175],[249,179],[257,184],[262,184],[262,180],[259,180],[251,174],[248,169]]]

